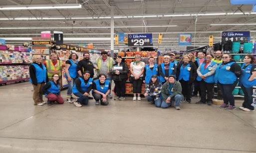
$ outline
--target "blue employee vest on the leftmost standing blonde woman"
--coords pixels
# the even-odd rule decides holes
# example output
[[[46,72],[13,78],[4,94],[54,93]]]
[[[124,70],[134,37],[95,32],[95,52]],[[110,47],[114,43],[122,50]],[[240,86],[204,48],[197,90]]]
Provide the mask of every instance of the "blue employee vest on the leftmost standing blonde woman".
[[[46,82],[46,73],[47,73],[47,71],[46,71],[45,66],[43,64],[41,64],[42,67],[43,67],[43,69],[42,69],[37,64],[32,63],[31,65],[33,65],[34,68],[35,68],[35,76],[36,76],[36,79],[37,79],[37,83]],[[32,82],[31,78],[30,78],[29,81]]]

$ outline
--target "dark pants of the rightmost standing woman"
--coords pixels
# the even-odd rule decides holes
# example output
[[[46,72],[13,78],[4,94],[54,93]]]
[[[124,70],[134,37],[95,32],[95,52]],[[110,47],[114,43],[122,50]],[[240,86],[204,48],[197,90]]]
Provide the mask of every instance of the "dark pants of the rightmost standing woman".
[[[254,94],[253,87],[245,87],[244,85],[242,85],[241,88],[245,94],[245,101],[242,106],[245,108],[254,110],[254,106],[251,105],[253,103],[253,96],[252,96]]]

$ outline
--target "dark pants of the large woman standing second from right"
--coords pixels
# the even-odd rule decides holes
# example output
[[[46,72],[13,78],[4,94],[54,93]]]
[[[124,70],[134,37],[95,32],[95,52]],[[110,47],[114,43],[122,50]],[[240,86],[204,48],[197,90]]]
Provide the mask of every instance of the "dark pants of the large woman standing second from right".
[[[232,94],[232,91],[237,85],[237,81],[235,81],[233,84],[221,84],[218,82],[218,85],[220,86],[222,93],[223,93],[223,100],[224,103],[227,105],[232,105],[235,106],[235,98],[234,95]]]

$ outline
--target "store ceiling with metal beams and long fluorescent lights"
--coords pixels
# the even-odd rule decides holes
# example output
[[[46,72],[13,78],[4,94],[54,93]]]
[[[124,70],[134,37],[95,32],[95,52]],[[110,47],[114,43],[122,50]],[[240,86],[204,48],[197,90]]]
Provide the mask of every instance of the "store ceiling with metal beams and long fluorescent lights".
[[[163,32],[163,44],[158,46],[162,48],[178,48],[180,32],[191,32],[195,38],[196,30],[195,45],[202,46],[208,44],[209,35],[215,36],[215,42],[220,41],[221,31],[256,31],[255,25],[248,25],[256,23],[252,5],[231,5],[230,0],[0,0],[0,6],[74,3],[82,4],[82,8],[0,10],[0,37],[37,37],[41,31],[55,30],[63,31],[64,37],[109,38],[111,7],[114,8],[114,24],[118,27],[115,32],[153,33],[154,42],[157,42],[158,33]],[[93,42],[96,48],[110,48],[110,41],[67,42]]]

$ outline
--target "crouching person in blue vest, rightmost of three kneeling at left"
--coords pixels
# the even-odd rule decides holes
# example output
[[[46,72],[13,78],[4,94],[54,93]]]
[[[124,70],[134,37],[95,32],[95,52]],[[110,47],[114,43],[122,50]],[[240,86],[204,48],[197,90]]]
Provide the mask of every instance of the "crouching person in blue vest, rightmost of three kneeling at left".
[[[111,83],[106,80],[107,76],[105,74],[99,74],[99,79],[93,81],[93,97],[95,99],[95,104],[98,105],[99,101],[101,105],[108,105],[108,93],[111,90]]]

